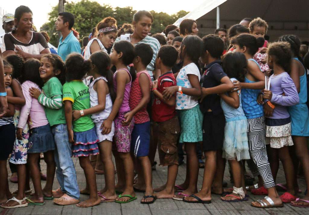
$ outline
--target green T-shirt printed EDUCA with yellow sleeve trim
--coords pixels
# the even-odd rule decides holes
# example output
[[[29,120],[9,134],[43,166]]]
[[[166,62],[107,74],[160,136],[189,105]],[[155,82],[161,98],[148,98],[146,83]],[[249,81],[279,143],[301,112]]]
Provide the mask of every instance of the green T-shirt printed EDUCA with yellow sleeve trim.
[[[72,102],[72,110],[84,110],[90,108],[89,88],[83,81],[70,81],[63,85],[63,98],[62,102],[69,100]],[[78,120],[73,121],[73,131],[81,132],[87,131],[94,127],[91,120],[91,115],[80,117]]]

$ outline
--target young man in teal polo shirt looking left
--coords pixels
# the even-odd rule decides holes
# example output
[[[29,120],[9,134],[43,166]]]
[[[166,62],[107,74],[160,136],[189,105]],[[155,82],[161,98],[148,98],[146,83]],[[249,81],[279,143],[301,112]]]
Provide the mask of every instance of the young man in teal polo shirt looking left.
[[[60,31],[61,38],[58,45],[58,55],[63,61],[66,60],[67,55],[77,52],[81,54],[80,43],[71,31],[75,22],[74,15],[69,12],[61,12],[58,14],[56,30]]]

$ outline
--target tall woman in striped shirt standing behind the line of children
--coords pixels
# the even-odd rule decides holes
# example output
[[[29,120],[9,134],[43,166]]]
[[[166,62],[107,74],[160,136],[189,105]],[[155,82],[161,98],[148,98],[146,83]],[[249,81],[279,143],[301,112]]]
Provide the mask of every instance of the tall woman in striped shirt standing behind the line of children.
[[[154,55],[152,57],[150,64],[148,64],[147,66],[147,71],[149,72],[151,80],[153,81],[154,78],[152,71],[155,69],[155,59],[161,46],[157,39],[148,36],[152,23],[153,18],[150,12],[148,11],[136,12],[133,16],[133,22],[132,22],[134,32],[132,34],[121,35],[116,39],[115,42],[126,40],[131,42],[134,46],[139,43],[146,43],[151,46],[152,50],[154,51]]]

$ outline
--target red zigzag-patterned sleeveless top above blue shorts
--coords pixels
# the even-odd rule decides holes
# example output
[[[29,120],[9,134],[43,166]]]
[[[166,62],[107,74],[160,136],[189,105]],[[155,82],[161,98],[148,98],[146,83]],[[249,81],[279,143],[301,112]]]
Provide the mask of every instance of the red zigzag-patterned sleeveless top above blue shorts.
[[[139,82],[138,82],[139,76],[142,73],[145,73],[148,76],[148,78],[149,78],[149,91],[151,90],[151,78],[150,78],[149,73],[147,71],[138,72],[136,74],[135,80],[132,82],[131,91],[130,91],[129,106],[130,106],[131,110],[136,108],[136,106],[140,103],[140,101],[142,100],[142,97],[143,97],[142,96],[142,89],[141,89],[141,86],[139,85]],[[145,105],[139,112],[137,112],[134,115],[134,123],[135,124],[150,121],[149,114],[146,110],[146,106],[147,105]]]

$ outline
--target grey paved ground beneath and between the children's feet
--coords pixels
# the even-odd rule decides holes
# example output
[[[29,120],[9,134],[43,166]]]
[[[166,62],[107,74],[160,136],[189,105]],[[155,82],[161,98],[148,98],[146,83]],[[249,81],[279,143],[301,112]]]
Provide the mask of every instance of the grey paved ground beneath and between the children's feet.
[[[158,158],[156,160],[159,160]],[[86,186],[85,176],[83,173],[83,169],[79,166],[78,159],[74,158],[74,163],[77,171],[77,179],[78,185],[80,188],[84,188]],[[8,167],[8,165],[7,165]],[[46,165],[43,160],[41,160],[41,168],[42,171],[46,172]],[[8,167],[9,169],[9,167]],[[201,188],[202,177],[203,177],[204,169],[200,169],[199,178],[198,178],[198,189]],[[167,167],[158,167],[157,170],[153,171],[153,185],[154,187],[161,186],[166,181],[167,178]],[[180,165],[178,177],[176,183],[182,183],[185,178],[185,164]],[[9,171],[10,175],[10,171]],[[229,182],[229,173],[226,168],[226,173],[224,177],[224,181],[228,182],[228,187],[232,187],[232,184]],[[277,183],[284,183],[284,172],[282,169],[282,165],[280,166]],[[42,186],[44,186],[44,181],[42,181]],[[298,179],[298,183],[300,185],[300,189],[305,191],[305,181],[303,179]],[[98,189],[104,186],[104,175],[97,175],[97,185]],[[9,182],[10,190],[15,191],[17,189],[17,184]],[[31,187],[33,189],[32,183]],[[54,181],[54,189],[59,187],[57,179],[55,177]],[[279,193],[281,195],[282,192]],[[249,193],[250,198],[249,201],[239,202],[239,203],[227,203],[223,202],[220,199],[220,195],[213,195],[211,204],[188,204],[182,201],[172,200],[172,199],[159,199],[156,200],[154,204],[140,204],[140,200],[142,199],[143,194],[137,193],[138,200],[127,204],[117,204],[117,203],[101,203],[95,207],[91,208],[78,208],[75,205],[68,206],[60,206],[53,204],[52,200],[45,200],[45,205],[43,206],[33,206],[30,205],[24,208],[15,208],[15,209],[3,209],[0,208],[0,215],[96,215],[96,214],[104,214],[104,215],[159,215],[159,214],[168,214],[168,215],[205,215],[205,214],[309,214],[309,208],[298,208],[290,206],[290,204],[285,204],[283,208],[254,208],[250,206],[251,201],[258,200],[263,198],[264,196],[252,195]],[[302,197],[303,193],[299,195]],[[81,200],[86,200],[88,197],[86,195],[81,195]]]

